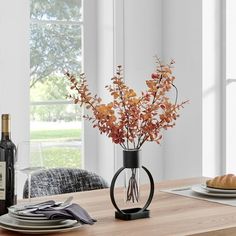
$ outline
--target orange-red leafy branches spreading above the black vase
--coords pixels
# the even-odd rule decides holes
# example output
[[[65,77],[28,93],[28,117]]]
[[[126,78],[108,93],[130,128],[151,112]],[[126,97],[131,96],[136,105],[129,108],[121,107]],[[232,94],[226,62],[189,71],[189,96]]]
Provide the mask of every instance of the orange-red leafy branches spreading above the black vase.
[[[91,110],[91,115],[84,118],[123,149],[140,149],[147,141],[159,144],[162,130],[175,125],[178,111],[187,102],[177,104],[178,90],[172,75],[174,63],[171,60],[169,64],[162,64],[157,58],[155,72],[146,80],[147,90],[140,96],[125,84],[122,66],[118,66],[116,75],[111,79],[112,84],[106,86],[112,96],[108,104],[104,104],[97,95],[92,95],[84,73],[77,80],[66,72],[71,84],[68,97],[75,104],[85,105]],[[174,102],[167,95],[171,89],[176,92]]]

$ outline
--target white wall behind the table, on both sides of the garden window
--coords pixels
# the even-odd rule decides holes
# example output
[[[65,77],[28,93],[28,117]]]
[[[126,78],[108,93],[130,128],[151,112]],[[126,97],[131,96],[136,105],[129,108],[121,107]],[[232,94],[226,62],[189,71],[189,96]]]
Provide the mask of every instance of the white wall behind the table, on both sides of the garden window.
[[[96,2],[86,2],[89,1]],[[200,176],[202,1],[100,0],[94,6],[93,18],[85,22],[89,25],[85,34],[90,41],[84,42],[85,50],[95,54],[92,58],[94,54],[91,53],[84,65],[88,79],[97,76],[93,89],[107,101],[104,86],[110,83],[115,65],[123,64],[125,80],[140,91],[155,67],[155,54],[165,61],[174,58],[179,101],[189,99],[190,104],[182,110],[176,127],[164,134],[162,145],[144,146],[143,164],[157,181]],[[19,142],[29,137],[29,0],[1,1],[0,9],[0,26],[4,32],[0,38],[0,112],[12,114],[13,139]],[[97,30],[93,32],[94,25]],[[85,155],[89,158],[85,168],[110,180],[121,166],[121,150],[90,124],[87,123],[85,129],[95,136],[86,144]]]

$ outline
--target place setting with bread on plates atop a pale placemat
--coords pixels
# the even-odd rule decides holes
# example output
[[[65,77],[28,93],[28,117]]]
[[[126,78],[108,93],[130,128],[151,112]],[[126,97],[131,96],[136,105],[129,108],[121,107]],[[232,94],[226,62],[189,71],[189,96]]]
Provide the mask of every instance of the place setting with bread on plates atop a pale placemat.
[[[236,176],[228,174],[207,180],[204,184],[181,186],[160,191],[210,202],[217,202],[230,206],[236,206],[235,180]]]

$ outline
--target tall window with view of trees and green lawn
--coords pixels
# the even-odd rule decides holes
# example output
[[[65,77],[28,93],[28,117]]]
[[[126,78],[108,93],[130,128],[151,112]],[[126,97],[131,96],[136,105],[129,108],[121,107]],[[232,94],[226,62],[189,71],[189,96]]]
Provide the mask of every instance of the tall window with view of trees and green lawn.
[[[81,110],[67,99],[64,72],[82,67],[81,0],[31,0],[30,131],[46,167],[81,167]]]

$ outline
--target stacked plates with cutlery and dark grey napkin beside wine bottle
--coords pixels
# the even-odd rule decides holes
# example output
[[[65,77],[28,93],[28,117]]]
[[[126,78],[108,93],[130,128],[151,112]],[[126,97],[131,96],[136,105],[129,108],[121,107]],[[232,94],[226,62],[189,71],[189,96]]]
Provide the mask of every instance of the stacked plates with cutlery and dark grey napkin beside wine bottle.
[[[80,205],[72,203],[72,199],[69,197],[64,202],[49,200],[11,206],[8,214],[0,216],[0,228],[24,234],[48,234],[94,224],[96,220]]]

